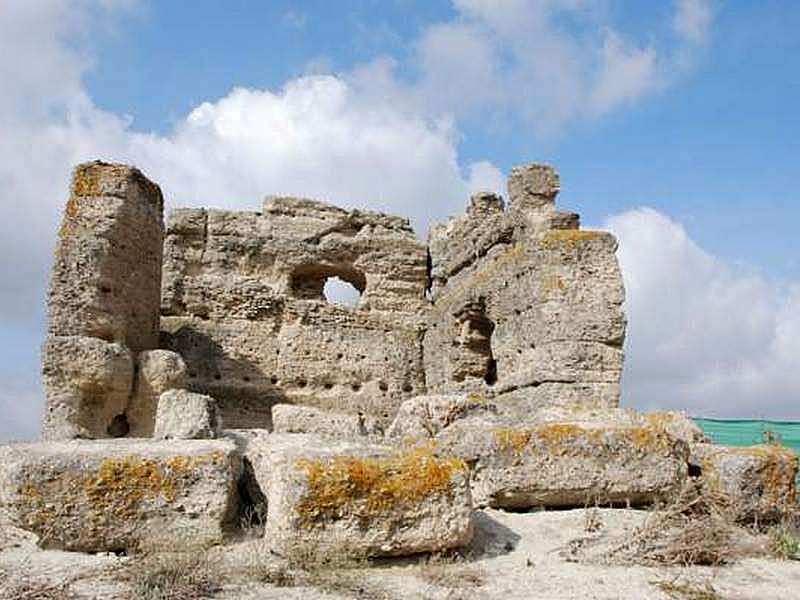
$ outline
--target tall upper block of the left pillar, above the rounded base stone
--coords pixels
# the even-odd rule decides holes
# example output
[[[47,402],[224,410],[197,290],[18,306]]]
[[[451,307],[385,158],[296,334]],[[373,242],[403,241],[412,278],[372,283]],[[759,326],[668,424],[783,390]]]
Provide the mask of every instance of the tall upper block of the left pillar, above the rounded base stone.
[[[58,232],[50,336],[86,336],[136,354],[158,346],[164,201],[135,168],[79,165]]]

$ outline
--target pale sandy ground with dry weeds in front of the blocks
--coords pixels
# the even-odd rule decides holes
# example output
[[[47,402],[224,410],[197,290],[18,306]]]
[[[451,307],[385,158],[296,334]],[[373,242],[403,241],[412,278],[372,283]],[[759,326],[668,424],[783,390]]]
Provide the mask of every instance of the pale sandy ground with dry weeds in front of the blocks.
[[[645,513],[600,509],[597,514],[601,523],[599,535],[617,535],[639,524]],[[323,583],[328,591],[319,587],[276,587],[234,577],[223,582],[212,597],[226,600],[800,599],[800,562],[745,559],[721,567],[689,568],[571,562],[566,558],[568,548],[574,540],[587,536],[586,517],[587,512],[582,509],[537,513],[482,510],[476,513],[476,536],[468,549],[471,558],[464,561],[426,557],[381,561],[348,572],[344,585],[338,578]],[[231,571],[253,561],[263,567],[272,560],[264,556],[264,546],[259,540],[238,542],[212,552],[215,566],[227,565]],[[32,536],[8,528],[0,537],[0,573],[10,578],[6,587],[10,585],[8,581],[21,578],[50,583],[70,581],[69,589],[76,597],[132,598],[120,576],[125,568],[130,568],[131,560],[113,555],[40,550]],[[659,587],[660,582],[667,584],[666,590]],[[701,590],[706,595],[691,594]],[[6,600],[7,596],[0,591],[0,598]],[[60,600],[57,596],[53,598]]]

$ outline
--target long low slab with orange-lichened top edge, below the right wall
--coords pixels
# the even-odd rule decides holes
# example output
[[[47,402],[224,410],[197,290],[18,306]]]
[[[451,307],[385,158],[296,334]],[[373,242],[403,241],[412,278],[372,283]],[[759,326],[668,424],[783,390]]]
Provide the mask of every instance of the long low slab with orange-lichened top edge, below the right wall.
[[[569,422],[458,421],[437,452],[471,466],[476,506],[526,509],[642,505],[669,497],[687,476],[688,445],[660,427]]]

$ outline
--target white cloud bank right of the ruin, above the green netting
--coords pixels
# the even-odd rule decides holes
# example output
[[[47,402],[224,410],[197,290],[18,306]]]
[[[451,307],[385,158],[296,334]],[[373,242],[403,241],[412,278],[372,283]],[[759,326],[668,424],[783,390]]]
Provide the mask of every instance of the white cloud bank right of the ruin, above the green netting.
[[[724,264],[652,209],[606,226],[628,297],[626,404],[800,417],[800,285]]]

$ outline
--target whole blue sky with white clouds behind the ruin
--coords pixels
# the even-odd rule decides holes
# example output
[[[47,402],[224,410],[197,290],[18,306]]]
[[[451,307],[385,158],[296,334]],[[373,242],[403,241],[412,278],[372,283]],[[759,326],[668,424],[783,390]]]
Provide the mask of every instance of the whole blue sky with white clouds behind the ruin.
[[[95,157],[171,206],[305,194],[421,237],[551,162],[620,239],[625,404],[800,417],[799,30],[790,0],[4,2],[0,437],[35,432],[55,226]]]

